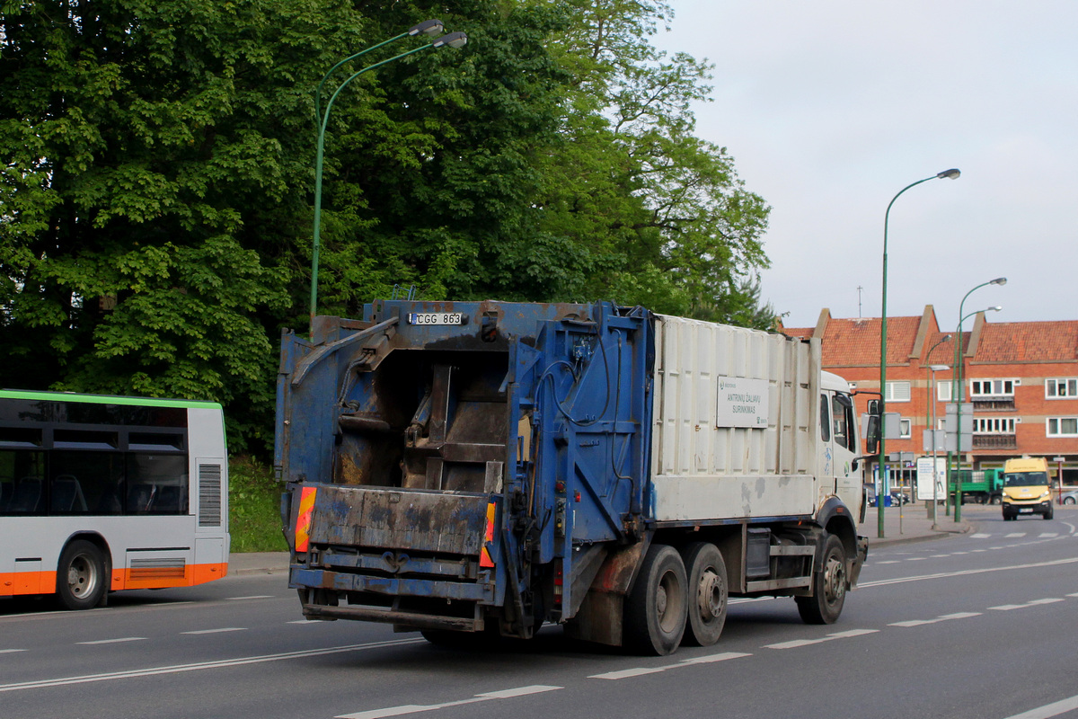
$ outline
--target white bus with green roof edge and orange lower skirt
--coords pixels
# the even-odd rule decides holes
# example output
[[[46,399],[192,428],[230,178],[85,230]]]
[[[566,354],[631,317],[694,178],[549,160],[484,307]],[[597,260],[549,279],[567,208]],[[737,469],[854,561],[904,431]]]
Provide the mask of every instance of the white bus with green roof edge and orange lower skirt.
[[[226,458],[213,402],[0,390],[0,597],[224,577]]]

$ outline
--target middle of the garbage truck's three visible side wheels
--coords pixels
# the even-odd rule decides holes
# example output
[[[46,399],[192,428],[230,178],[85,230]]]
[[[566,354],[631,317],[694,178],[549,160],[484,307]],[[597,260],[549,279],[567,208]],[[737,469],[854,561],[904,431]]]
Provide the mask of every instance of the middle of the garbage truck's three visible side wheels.
[[[689,623],[685,645],[710,647],[719,640],[727,623],[727,564],[719,548],[708,542],[693,542],[681,550],[689,571]]]

